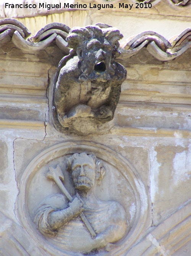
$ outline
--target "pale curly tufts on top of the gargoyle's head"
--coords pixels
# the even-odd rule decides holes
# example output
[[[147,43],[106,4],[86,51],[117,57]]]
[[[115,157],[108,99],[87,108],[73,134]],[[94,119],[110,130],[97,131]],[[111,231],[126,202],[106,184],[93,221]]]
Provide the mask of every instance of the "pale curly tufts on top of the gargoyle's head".
[[[93,38],[102,41],[101,43],[104,43],[104,38],[107,39],[113,50],[116,50],[114,48],[116,48],[116,44],[117,48],[119,47],[118,40],[123,38],[123,35],[120,34],[117,28],[97,23],[96,25],[86,26],[84,28],[74,27],[70,30],[66,41],[68,42],[68,47],[76,50],[79,46]]]

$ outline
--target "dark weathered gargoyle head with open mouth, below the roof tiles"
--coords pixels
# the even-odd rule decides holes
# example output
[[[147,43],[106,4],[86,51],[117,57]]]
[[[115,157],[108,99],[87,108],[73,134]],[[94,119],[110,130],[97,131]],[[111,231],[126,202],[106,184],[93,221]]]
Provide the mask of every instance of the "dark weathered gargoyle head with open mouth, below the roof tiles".
[[[117,28],[96,24],[74,27],[66,38],[81,61],[81,81],[108,81],[115,73],[114,59],[120,55],[119,42],[123,38]]]

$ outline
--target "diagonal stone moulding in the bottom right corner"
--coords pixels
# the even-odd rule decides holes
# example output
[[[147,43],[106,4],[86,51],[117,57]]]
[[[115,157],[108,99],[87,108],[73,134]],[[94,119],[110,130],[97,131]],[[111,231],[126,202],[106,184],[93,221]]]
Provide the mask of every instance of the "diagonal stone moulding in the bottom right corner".
[[[179,248],[191,240],[191,202],[178,209],[170,217],[154,228],[127,256],[134,255],[139,248],[140,255],[153,256],[156,250],[160,255],[173,255]],[[140,249],[141,248],[141,249]]]

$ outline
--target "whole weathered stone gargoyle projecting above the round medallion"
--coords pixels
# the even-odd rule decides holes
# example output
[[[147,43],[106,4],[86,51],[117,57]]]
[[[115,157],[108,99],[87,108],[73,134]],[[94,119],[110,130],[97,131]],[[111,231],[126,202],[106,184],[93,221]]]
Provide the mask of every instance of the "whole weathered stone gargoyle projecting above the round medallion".
[[[66,41],[72,50],[58,65],[53,89],[57,130],[88,135],[111,128],[126,79],[126,69],[115,62],[122,37],[117,28],[101,23],[70,30]]]

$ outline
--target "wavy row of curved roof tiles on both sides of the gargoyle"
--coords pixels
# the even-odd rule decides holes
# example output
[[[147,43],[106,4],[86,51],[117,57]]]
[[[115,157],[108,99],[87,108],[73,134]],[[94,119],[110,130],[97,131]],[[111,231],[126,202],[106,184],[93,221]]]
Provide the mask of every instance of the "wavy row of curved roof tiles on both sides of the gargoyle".
[[[5,18],[0,20],[0,45],[3,45],[7,36],[11,36],[18,49],[32,54],[43,50],[53,42],[65,55],[68,55],[70,48],[67,47],[65,39],[69,30],[68,26],[53,22],[31,36],[30,31],[20,21]],[[191,48],[191,27],[184,30],[172,43],[154,31],[142,32],[133,39],[123,41],[120,45],[121,56],[118,59],[130,58],[144,47],[160,61],[175,59]]]

